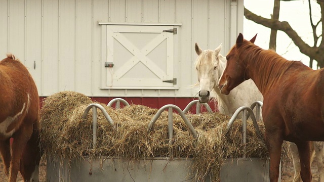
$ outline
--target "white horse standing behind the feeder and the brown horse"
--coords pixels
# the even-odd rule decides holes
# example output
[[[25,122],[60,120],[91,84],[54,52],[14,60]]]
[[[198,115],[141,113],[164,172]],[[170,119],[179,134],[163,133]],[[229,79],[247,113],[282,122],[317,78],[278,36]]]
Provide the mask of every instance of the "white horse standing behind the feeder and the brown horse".
[[[217,95],[214,96],[217,103],[219,112],[232,116],[237,108],[241,106],[250,107],[255,101],[263,102],[263,96],[260,93],[258,87],[255,85],[252,79],[246,80],[231,90],[229,95],[220,94],[218,88],[218,80],[221,77],[225,66],[226,58],[220,53],[221,45],[215,50],[201,50],[197,43],[195,43],[195,51],[198,55],[195,68],[198,74],[199,81],[199,102],[207,103],[212,98],[212,92]],[[240,116],[240,115],[239,115]],[[260,115],[261,116],[261,115]],[[323,142],[314,142],[312,150],[313,161],[314,153],[317,159],[317,168],[319,172],[318,182],[324,182],[324,148]],[[294,164],[294,182],[301,181],[300,177],[300,160],[298,155],[297,146],[291,143],[290,151]]]

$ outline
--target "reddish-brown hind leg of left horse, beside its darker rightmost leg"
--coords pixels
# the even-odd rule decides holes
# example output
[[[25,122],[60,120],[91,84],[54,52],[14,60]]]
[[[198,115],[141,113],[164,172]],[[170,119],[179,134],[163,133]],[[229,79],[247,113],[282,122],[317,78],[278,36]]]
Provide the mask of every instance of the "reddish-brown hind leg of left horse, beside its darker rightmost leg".
[[[27,121],[26,121],[27,122]],[[16,182],[17,174],[20,167],[20,159],[22,151],[24,150],[32,133],[32,125],[22,125],[18,131],[13,135],[14,142],[11,147],[11,163],[9,181]]]

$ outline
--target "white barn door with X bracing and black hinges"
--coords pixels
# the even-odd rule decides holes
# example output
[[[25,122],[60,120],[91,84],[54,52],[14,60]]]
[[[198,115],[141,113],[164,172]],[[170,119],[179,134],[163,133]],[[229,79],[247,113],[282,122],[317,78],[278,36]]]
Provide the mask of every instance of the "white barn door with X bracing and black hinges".
[[[174,26],[107,25],[106,86],[176,89]]]

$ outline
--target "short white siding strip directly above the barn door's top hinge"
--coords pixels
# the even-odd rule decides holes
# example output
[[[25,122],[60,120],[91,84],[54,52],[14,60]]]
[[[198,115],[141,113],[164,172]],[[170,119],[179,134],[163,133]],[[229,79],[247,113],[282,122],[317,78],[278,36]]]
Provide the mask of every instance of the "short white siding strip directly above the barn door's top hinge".
[[[160,1],[160,22],[175,22],[175,0]]]

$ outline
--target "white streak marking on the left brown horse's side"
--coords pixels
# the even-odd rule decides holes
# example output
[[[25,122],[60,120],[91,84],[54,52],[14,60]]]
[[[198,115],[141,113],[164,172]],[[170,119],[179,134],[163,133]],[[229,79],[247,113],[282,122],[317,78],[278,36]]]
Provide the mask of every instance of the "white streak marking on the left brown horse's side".
[[[11,117],[8,116],[4,121],[2,121],[0,123],[0,133],[3,134],[5,137],[10,137],[14,134],[14,132],[16,131],[15,128],[12,129],[11,131],[7,132],[7,128],[9,127],[9,125],[14,122],[26,109],[26,112],[28,112],[28,107],[29,107],[29,94],[27,94],[28,96],[28,100],[27,100],[27,107],[26,107],[26,103],[23,104],[23,107],[21,109],[21,111],[19,113],[17,113],[15,116]]]

